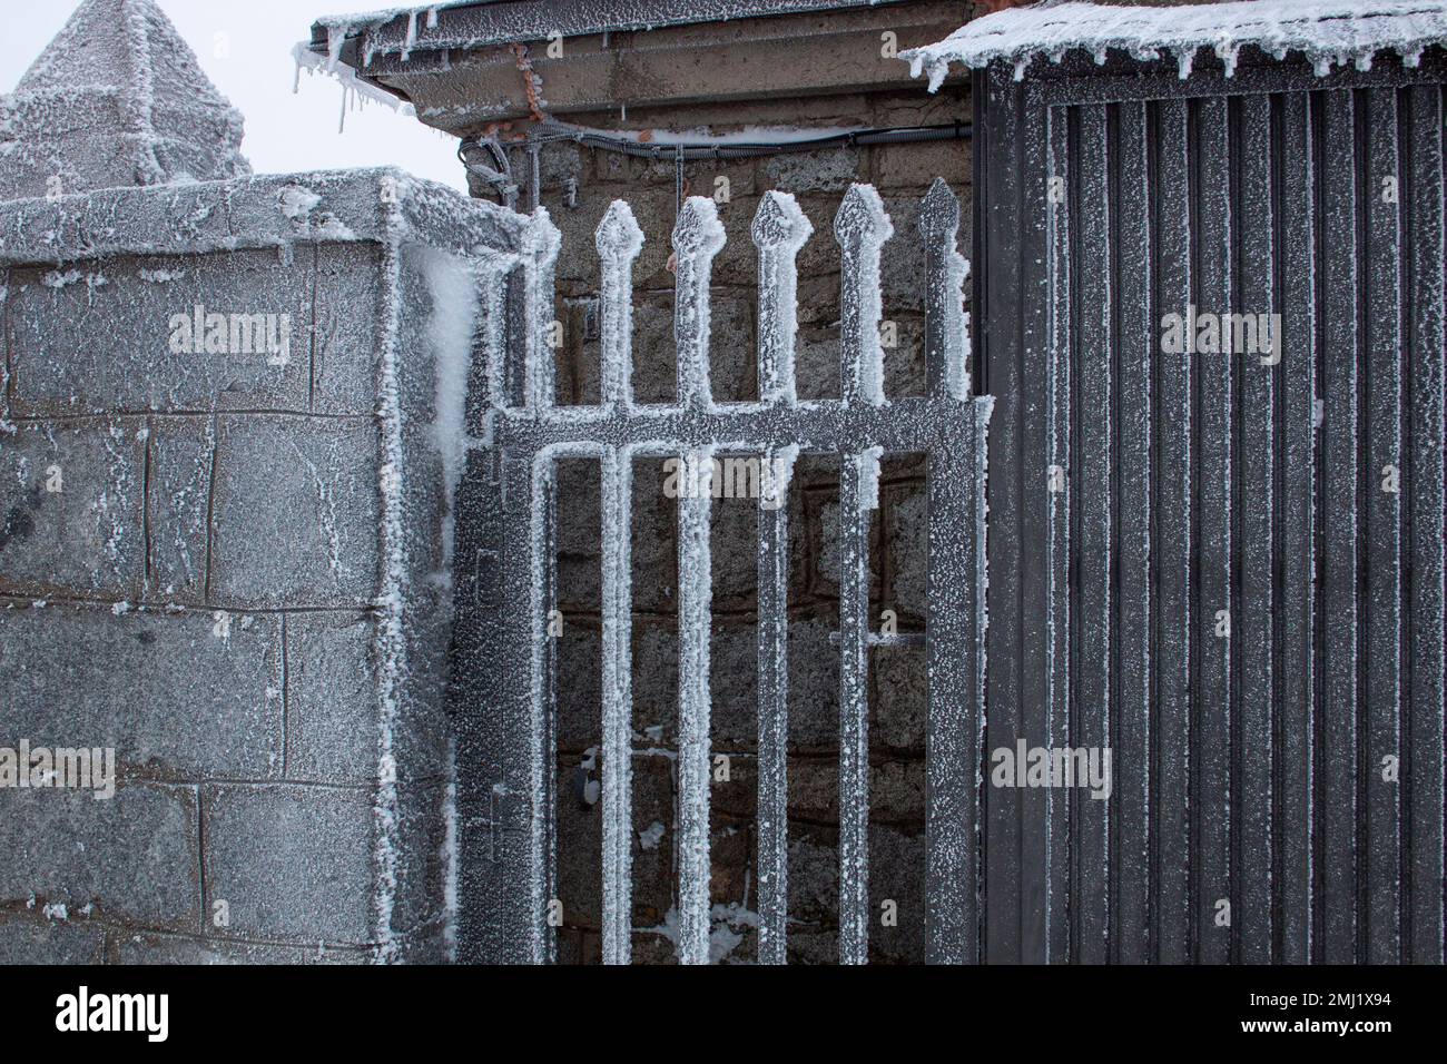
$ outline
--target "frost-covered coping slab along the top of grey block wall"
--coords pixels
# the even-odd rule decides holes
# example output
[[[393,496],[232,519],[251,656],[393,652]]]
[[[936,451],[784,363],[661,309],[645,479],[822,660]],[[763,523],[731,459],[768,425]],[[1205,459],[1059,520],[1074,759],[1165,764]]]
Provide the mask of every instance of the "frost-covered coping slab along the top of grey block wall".
[[[531,221],[398,169],[320,171],[0,201],[0,266],[415,239],[514,255]]]

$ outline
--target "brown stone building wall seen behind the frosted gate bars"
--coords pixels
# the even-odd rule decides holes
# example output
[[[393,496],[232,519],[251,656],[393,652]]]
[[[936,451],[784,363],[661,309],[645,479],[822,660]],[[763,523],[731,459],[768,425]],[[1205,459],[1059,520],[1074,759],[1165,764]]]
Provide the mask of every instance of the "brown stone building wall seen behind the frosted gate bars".
[[[629,110],[628,129],[710,135],[748,126],[861,127],[954,123],[968,119],[968,90],[946,85],[929,97],[917,88],[870,96],[819,97],[776,104],[700,104],[658,113]],[[583,124],[619,127],[616,114]],[[514,172],[527,188],[527,155],[514,152]],[[919,201],[943,177],[965,204],[961,246],[969,246],[968,140],[844,148],[731,162],[686,164],[686,194],[713,195],[728,243],[713,263],[712,368],[718,400],[757,398],[755,250],[750,224],[760,195],[793,193],[815,227],[800,253],[800,398],[838,397],[839,272],[833,214],[851,182],[871,182],[884,198],[894,237],[884,246],[884,318],[897,324],[899,345],[886,350],[886,391],[922,394],[923,245]],[[674,395],[673,275],[670,232],[676,207],[674,164],[572,143],[550,145],[540,168],[543,204],[563,232],[557,316],[564,326],[559,352],[559,401],[598,401],[599,350],[589,332],[598,288],[593,230],[615,198],[627,200],[647,242],[635,271],[634,389],[638,401]],[[482,194],[483,187],[476,187]],[[893,609],[899,630],[923,631],[923,463],[887,456],[881,505],[873,528],[871,602],[878,628]],[[663,495],[658,462],[640,462],[634,485],[634,958],[673,958],[669,913],[677,895],[674,821],[677,803],[677,676],[674,612],[677,573],[674,502]],[[560,470],[559,595],[567,622],[559,657],[557,728],[559,960],[598,961],[601,928],[599,803],[586,801],[598,779],[599,692],[599,498],[598,466],[566,462]],[[838,667],[831,633],[838,627],[838,560],[833,511],[838,460],[800,460],[790,497],[790,960],[838,960]],[[755,951],[751,911],[757,908],[755,753],[757,504],[721,499],[713,511],[713,750],[729,757],[729,780],[716,782],[712,805],[716,954],[747,961]],[[925,683],[923,647],[871,651],[871,960],[923,960],[925,879]],[[579,798],[583,795],[583,798]],[[502,873],[499,873],[502,874]],[[881,924],[881,903],[897,903],[897,925]]]

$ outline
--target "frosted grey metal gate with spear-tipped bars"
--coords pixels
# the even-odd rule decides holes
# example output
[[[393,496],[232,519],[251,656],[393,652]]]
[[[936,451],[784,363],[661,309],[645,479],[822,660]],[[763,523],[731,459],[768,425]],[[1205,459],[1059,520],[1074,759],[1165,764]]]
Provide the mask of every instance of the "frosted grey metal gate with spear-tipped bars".
[[[631,633],[629,531],[632,460],[669,455],[706,462],[715,453],[768,459],[770,491],[787,491],[799,453],[831,453],[841,473],[841,958],[862,963],[868,944],[867,649],[888,636],[868,618],[868,517],[884,452],[928,455],[928,950],[933,960],[972,960],[978,950],[977,857],[981,735],[981,575],[984,439],[988,398],[974,398],[961,307],[968,265],[955,248],[959,204],[936,182],[925,198],[925,397],[884,395],[880,345],[880,246],[891,224],[873,187],[855,185],[835,219],[841,248],[842,398],[794,394],[796,255],[810,224],[793,197],[767,193],[754,220],[758,248],[758,402],[713,402],[709,387],[709,274],[724,245],[712,200],[684,203],[674,233],[677,402],[638,405],[629,388],[632,263],[642,233],[618,201],[598,229],[602,261],[602,404],[554,405],[553,263],[559,233],[540,211],[521,268],[488,310],[485,353],[491,413],[459,497],[460,544],[475,575],[459,586],[456,657],[469,714],[459,761],[486,793],[462,803],[463,935],[475,960],[554,958],[548,908],[554,890],[554,465],[595,457],[602,475],[602,950],[629,960]],[[505,300],[509,305],[502,305]],[[506,334],[512,323],[515,332]],[[509,359],[506,352],[522,352]],[[761,504],[767,495],[761,497]],[[709,955],[709,620],[710,497],[679,498],[680,869],[679,955]],[[760,960],[783,963],[787,916],[787,507],[758,511],[758,905]],[[470,769],[469,769],[470,770]],[[480,773],[480,774],[479,774]],[[464,954],[464,960],[466,960]]]

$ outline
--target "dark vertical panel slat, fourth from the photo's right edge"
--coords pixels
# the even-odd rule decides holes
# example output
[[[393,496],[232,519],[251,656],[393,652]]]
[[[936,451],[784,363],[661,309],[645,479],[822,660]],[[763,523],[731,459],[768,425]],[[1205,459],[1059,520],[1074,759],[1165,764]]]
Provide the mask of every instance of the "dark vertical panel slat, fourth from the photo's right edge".
[[[1312,734],[1315,730],[1317,217],[1311,96],[1281,96],[1281,662],[1279,809],[1272,818],[1281,906],[1275,960],[1311,960]]]

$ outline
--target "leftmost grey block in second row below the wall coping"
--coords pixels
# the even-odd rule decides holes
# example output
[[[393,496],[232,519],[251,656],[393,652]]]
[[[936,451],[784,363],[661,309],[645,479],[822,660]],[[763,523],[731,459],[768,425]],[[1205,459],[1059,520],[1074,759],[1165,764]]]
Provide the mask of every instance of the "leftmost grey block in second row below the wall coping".
[[[0,594],[139,594],[145,436],[133,420],[0,434]]]

